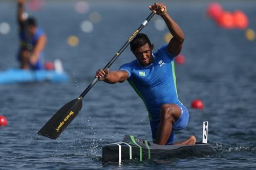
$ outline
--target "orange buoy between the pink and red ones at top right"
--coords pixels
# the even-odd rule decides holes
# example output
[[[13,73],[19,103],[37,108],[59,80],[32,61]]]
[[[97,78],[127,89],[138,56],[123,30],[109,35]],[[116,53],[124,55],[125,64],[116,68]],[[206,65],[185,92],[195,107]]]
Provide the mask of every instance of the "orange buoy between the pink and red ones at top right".
[[[218,17],[217,23],[220,27],[223,27],[225,29],[232,29],[235,27],[233,15],[228,11],[223,12]]]

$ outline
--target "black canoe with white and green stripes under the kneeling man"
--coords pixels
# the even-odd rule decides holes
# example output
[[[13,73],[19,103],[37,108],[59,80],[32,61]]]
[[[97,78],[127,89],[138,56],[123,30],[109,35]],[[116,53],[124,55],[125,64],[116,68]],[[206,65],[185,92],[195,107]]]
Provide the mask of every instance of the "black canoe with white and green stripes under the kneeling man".
[[[125,135],[123,141],[105,144],[102,147],[102,163],[137,159],[166,159],[172,157],[202,156],[212,153],[209,143],[195,145],[159,145],[150,141]]]

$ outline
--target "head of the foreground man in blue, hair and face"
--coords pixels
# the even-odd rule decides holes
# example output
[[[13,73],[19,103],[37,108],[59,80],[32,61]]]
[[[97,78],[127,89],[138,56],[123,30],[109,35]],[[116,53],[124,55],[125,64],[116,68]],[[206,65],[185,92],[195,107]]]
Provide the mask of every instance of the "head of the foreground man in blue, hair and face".
[[[153,62],[152,50],[154,45],[151,44],[146,34],[137,34],[130,46],[131,51],[142,66],[150,65]]]

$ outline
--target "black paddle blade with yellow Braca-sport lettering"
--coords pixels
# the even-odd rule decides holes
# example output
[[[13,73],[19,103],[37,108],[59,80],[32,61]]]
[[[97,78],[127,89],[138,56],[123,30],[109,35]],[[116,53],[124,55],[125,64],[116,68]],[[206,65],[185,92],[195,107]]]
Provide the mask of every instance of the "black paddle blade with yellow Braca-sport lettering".
[[[37,134],[56,139],[72,122],[82,108],[82,98],[77,98],[61,107]]]

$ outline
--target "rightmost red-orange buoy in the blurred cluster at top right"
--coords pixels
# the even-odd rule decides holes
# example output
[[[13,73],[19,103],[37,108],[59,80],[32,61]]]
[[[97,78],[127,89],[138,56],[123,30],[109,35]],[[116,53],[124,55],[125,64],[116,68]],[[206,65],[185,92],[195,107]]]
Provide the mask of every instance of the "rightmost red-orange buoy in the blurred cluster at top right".
[[[248,18],[246,14],[240,10],[233,12],[234,24],[239,29],[246,29],[248,27]]]

